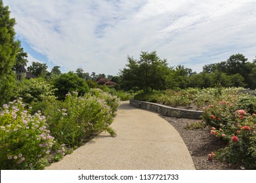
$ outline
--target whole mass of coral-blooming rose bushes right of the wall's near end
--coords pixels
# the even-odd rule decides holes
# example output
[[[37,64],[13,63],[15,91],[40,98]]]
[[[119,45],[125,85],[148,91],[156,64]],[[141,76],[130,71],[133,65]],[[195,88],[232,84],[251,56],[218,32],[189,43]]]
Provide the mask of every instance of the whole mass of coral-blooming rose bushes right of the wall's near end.
[[[229,94],[226,99],[209,105],[202,115],[203,121],[212,127],[211,134],[228,141],[226,148],[215,153],[215,158],[255,169],[256,114],[249,114],[241,107],[251,109],[256,97],[237,93]]]

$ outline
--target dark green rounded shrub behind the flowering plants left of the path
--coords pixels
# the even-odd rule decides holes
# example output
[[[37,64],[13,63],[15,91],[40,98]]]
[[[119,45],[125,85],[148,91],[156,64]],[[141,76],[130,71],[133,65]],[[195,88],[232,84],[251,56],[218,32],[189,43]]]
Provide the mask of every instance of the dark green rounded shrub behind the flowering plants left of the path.
[[[73,72],[64,73],[54,78],[53,86],[58,89],[55,91],[55,95],[60,100],[65,99],[69,92],[78,92],[78,95],[81,96],[89,90],[87,82]]]

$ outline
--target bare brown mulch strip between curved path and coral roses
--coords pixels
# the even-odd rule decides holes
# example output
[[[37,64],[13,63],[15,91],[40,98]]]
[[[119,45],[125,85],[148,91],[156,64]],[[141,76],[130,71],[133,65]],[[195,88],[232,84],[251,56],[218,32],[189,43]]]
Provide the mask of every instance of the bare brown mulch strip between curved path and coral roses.
[[[181,135],[185,142],[190,155],[194,161],[194,165],[197,170],[234,170],[240,169],[234,165],[221,163],[216,160],[208,161],[207,154],[219,148],[223,148],[226,144],[210,133],[209,127],[204,129],[188,130],[185,129],[186,124],[189,122],[196,122],[198,120],[189,120],[184,118],[171,118],[161,116],[161,118],[167,120]]]

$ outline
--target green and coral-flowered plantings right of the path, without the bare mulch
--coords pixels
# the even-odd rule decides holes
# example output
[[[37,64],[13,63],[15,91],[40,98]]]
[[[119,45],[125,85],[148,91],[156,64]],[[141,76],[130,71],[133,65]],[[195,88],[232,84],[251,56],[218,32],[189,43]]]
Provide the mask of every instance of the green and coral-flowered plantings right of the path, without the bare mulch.
[[[197,108],[202,108],[202,120],[211,127],[210,133],[227,144],[220,150],[209,152],[209,161],[217,159],[244,169],[256,169],[256,97],[241,93],[240,90],[242,89],[192,88],[179,92],[167,90],[140,93],[135,99],[164,103],[173,107],[183,105],[189,108],[194,104]],[[140,104],[141,108],[152,110],[152,107],[143,107],[144,103]],[[179,115],[175,117],[179,118]],[[188,129],[201,125],[203,126],[201,123],[190,124]]]

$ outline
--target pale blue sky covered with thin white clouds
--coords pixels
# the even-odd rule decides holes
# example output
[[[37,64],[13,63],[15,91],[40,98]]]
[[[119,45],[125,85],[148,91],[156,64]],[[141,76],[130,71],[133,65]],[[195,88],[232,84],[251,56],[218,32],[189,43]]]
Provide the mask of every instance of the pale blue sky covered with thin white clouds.
[[[156,51],[202,71],[232,54],[256,56],[255,0],[3,0],[32,61],[62,72],[117,75],[127,56]]]

